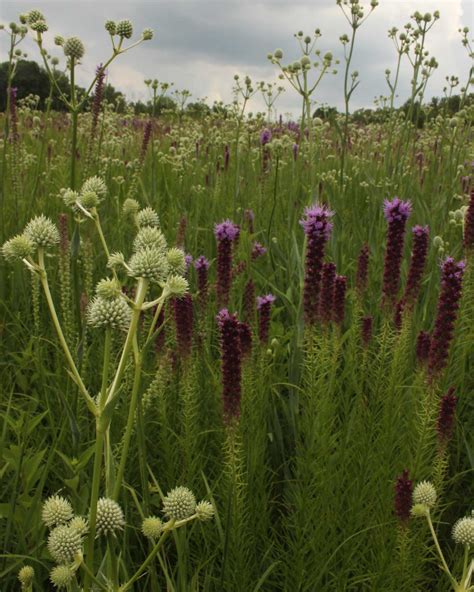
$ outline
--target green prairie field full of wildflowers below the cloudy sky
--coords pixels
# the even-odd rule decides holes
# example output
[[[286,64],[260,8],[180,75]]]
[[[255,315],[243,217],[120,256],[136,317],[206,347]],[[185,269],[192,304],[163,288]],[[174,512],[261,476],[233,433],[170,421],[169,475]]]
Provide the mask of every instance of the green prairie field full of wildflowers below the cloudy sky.
[[[1,592],[474,590],[472,41],[429,102],[407,15],[353,110],[377,2],[334,10],[338,59],[297,32],[229,104],[113,96],[128,20],[89,87],[40,10],[0,31]]]

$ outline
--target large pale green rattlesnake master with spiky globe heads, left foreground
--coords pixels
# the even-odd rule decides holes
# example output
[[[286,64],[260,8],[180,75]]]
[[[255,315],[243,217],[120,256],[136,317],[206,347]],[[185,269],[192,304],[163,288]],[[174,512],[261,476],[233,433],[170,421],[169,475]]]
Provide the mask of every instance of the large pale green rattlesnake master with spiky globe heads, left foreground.
[[[129,33],[127,27],[126,23],[118,27],[124,37]],[[56,312],[50,289],[45,254],[53,257],[60,241],[64,243],[64,237],[60,236],[57,227],[49,218],[40,215],[28,222],[22,234],[6,241],[1,251],[8,262],[22,262],[39,278],[69,366],[69,373],[95,419],[94,468],[87,518],[74,515],[71,503],[61,495],[48,498],[42,509],[42,520],[51,529],[47,549],[57,563],[50,573],[51,583],[56,588],[64,589],[71,585],[80,585],[82,582],[84,590],[88,591],[93,584],[97,585],[98,577],[118,582],[119,574],[114,571],[117,568],[109,565],[109,559],[105,562],[108,565],[105,573],[104,568],[99,567],[103,564],[94,557],[96,538],[105,537],[105,558],[110,558],[115,553],[115,538],[122,536],[126,528],[125,515],[118,500],[122,494],[130,439],[137,413],[142,360],[150,345],[154,343],[156,325],[164,303],[170,296],[179,297],[186,294],[188,281],[184,277],[184,252],[175,247],[168,248],[155,210],[150,207],[140,208],[135,201],[130,208],[128,202],[126,211],[129,222],[135,226],[135,237],[132,240],[131,253],[126,257],[123,253],[110,254],[102,230],[100,208],[108,198],[107,186],[103,179],[97,176],[90,177],[85,180],[79,191],[63,189],[60,195],[65,206],[70,208],[79,223],[79,231],[87,224],[96,230],[98,242],[107,261],[103,276],[112,273],[112,277],[103,277],[97,283],[95,295],[88,303],[83,319],[92,329],[102,330],[98,335],[103,341],[104,362],[102,385],[98,394],[90,391],[81,375],[73,350],[65,338],[65,331]],[[64,232],[64,229],[61,232]],[[133,294],[133,297],[127,295],[127,292]],[[146,300],[148,295],[150,299]],[[154,309],[154,316],[142,331],[139,321],[142,313],[148,309]],[[121,348],[117,358],[112,358],[111,355],[113,332],[125,334],[125,339],[116,341]],[[133,357],[130,359],[132,352]],[[128,421],[120,437],[120,455],[114,458],[110,426],[114,420],[121,381],[126,367],[130,366],[135,374],[134,388],[128,402]],[[102,479],[102,468],[107,476],[105,482]],[[100,497],[101,491],[105,495]],[[130,588],[140,577],[171,530],[192,520],[209,520],[214,511],[208,502],[197,504],[194,494],[189,489],[178,487],[164,497],[163,512],[168,518],[166,522],[153,516],[144,520],[142,532],[147,538],[156,540],[156,544],[138,571],[120,587],[121,591]],[[128,571],[133,573],[133,570]],[[22,589],[30,590],[33,582],[31,568],[25,566],[18,577]]]

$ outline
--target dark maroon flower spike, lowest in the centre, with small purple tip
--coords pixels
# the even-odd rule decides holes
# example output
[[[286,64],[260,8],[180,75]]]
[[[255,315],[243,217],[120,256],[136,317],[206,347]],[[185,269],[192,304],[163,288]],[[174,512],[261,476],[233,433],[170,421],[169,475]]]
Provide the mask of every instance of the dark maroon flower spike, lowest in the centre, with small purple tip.
[[[242,330],[236,314],[223,308],[217,315],[222,363],[222,399],[224,419],[229,422],[240,415],[242,379]]]

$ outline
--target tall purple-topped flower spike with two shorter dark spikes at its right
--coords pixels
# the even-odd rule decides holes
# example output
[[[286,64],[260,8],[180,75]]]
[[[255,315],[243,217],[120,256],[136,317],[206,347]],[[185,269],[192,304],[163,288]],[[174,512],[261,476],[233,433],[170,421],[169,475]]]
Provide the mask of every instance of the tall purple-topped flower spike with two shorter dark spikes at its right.
[[[314,204],[305,209],[305,216],[300,220],[307,237],[303,302],[305,321],[309,324],[314,324],[318,316],[321,270],[332,216],[333,212],[326,206]]]

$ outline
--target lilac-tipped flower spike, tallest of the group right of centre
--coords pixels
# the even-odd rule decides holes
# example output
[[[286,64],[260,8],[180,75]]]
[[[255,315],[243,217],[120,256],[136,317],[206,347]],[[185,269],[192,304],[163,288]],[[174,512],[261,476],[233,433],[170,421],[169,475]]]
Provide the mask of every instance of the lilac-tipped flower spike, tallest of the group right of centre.
[[[405,225],[410,215],[411,205],[396,197],[392,201],[385,200],[384,215],[388,221],[387,247],[383,275],[383,301],[394,304],[400,285],[400,267],[403,257]]]

